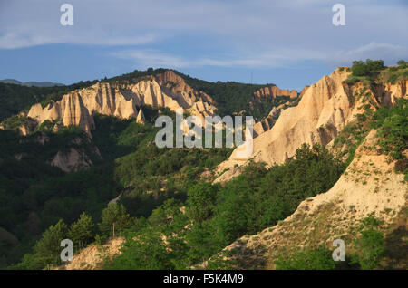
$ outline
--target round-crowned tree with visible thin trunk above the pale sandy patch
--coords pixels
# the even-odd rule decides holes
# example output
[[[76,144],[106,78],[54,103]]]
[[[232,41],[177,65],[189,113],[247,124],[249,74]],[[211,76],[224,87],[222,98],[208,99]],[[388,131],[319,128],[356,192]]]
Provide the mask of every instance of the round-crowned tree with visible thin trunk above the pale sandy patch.
[[[131,225],[131,217],[126,213],[125,206],[112,203],[102,211],[102,223],[99,227],[106,235],[114,237]]]

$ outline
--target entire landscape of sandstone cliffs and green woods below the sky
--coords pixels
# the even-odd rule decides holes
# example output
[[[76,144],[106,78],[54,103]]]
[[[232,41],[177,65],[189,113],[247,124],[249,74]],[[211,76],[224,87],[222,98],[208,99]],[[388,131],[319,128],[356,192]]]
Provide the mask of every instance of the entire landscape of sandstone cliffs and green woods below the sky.
[[[2,122],[0,264],[59,266],[68,237],[76,258],[64,269],[281,269],[299,253],[327,255],[341,237],[357,259],[344,268],[364,269],[361,219],[403,245],[407,79],[381,62],[358,76],[359,64],[300,94],[162,69],[54,87]],[[154,122],[178,108],[259,111],[254,157],[159,149]],[[392,255],[372,266],[403,267]]]

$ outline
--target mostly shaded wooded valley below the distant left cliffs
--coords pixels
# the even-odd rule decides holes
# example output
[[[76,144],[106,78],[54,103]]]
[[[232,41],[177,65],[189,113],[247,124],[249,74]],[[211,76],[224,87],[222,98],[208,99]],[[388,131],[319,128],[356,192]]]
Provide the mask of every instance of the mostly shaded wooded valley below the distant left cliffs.
[[[143,111],[150,122],[154,122],[159,112],[174,117],[168,109],[154,110],[145,106]],[[30,261],[30,264],[24,267],[44,264],[44,261],[38,262],[31,247],[45,228],[59,219],[81,232],[72,239],[79,248],[93,241],[95,232],[101,240],[113,235],[113,231],[114,235],[121,234],[129,227],[120,217],[123,206],[118,214],[109,209],[102,213],[112,198],[125,192],[122,202],[134,207],[130,209],[132,216],[150,216],[166,199],[186,197],[189,182],[185,177],[197,181],[201,172],[214,168],[228,158],[231,151],[157,149],[154,137],[158,129],[149,122],[140,125],[134,120],[102,115],[94,118],[97,130],[93,131],[92,139],[75,126],[54,133],[53,123],[46,122],[40,130],[24,138],[13,130],[0,130],[0,226],[20,240],[13,246],[1,243],[2,265],[15,264],[30,251],[33,253],[24,258],[25,263]],[[102,158],[94,145],[101,151]],[[84,151],[94,166],[65,174],[49,165],[58,151],[70,148]],[[158,186],[160,183],[167,183],[164,190]],[[149,189],[153,193],[146,193]],[[81,216],[83,212],[86,216]],[[100,225],[89,231],[87,227],[92,226],[92,219]],[[130,224],[133,225],[133,221]],[[85,233],[83,226],[89,233]]]

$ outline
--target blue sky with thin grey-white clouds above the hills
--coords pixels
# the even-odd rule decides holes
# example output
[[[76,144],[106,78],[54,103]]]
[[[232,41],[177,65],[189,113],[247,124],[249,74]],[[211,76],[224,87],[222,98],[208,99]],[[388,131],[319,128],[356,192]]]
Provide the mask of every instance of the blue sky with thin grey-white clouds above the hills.
[[[345,6],[334,25],[333,5]],[[73,6],[62,25],[61,5]],[[300,91],[354,60],[408,60],[407,0],[0,0],[0,79],[171,68]]]

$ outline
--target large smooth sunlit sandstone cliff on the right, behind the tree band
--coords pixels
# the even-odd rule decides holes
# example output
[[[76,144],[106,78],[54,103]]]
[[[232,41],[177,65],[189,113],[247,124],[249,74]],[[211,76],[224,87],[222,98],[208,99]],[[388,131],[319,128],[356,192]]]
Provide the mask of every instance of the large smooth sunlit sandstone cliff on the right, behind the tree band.
[[[362,111],[364,103],[375,108],[405,96],[406,82],[385,84],[384,92],[378,94],[369,88],[363,89],[361,83],[348,86],[345,83],[348,75],[346,70],[337,69],[308,87],[296,107],[282,110],[272,129],[253,140],[250,158],[268,165],[281,164],[287,158],[292,158],[303,143],[325,145],[335,139],[338,131]],[[367,95],[367,102],[362,97],[356,98],[358,92],[363,93],[362,90],[366,90],[364,97]],[[380,88],[377,90],[381,91]],[[227,181],[234,177],[232,168],[247,162],[248,158],[238,158],[237,152],[238,149],[235,149],[230,158],[219,165],[218,171],[228,171],[216,181]]]

